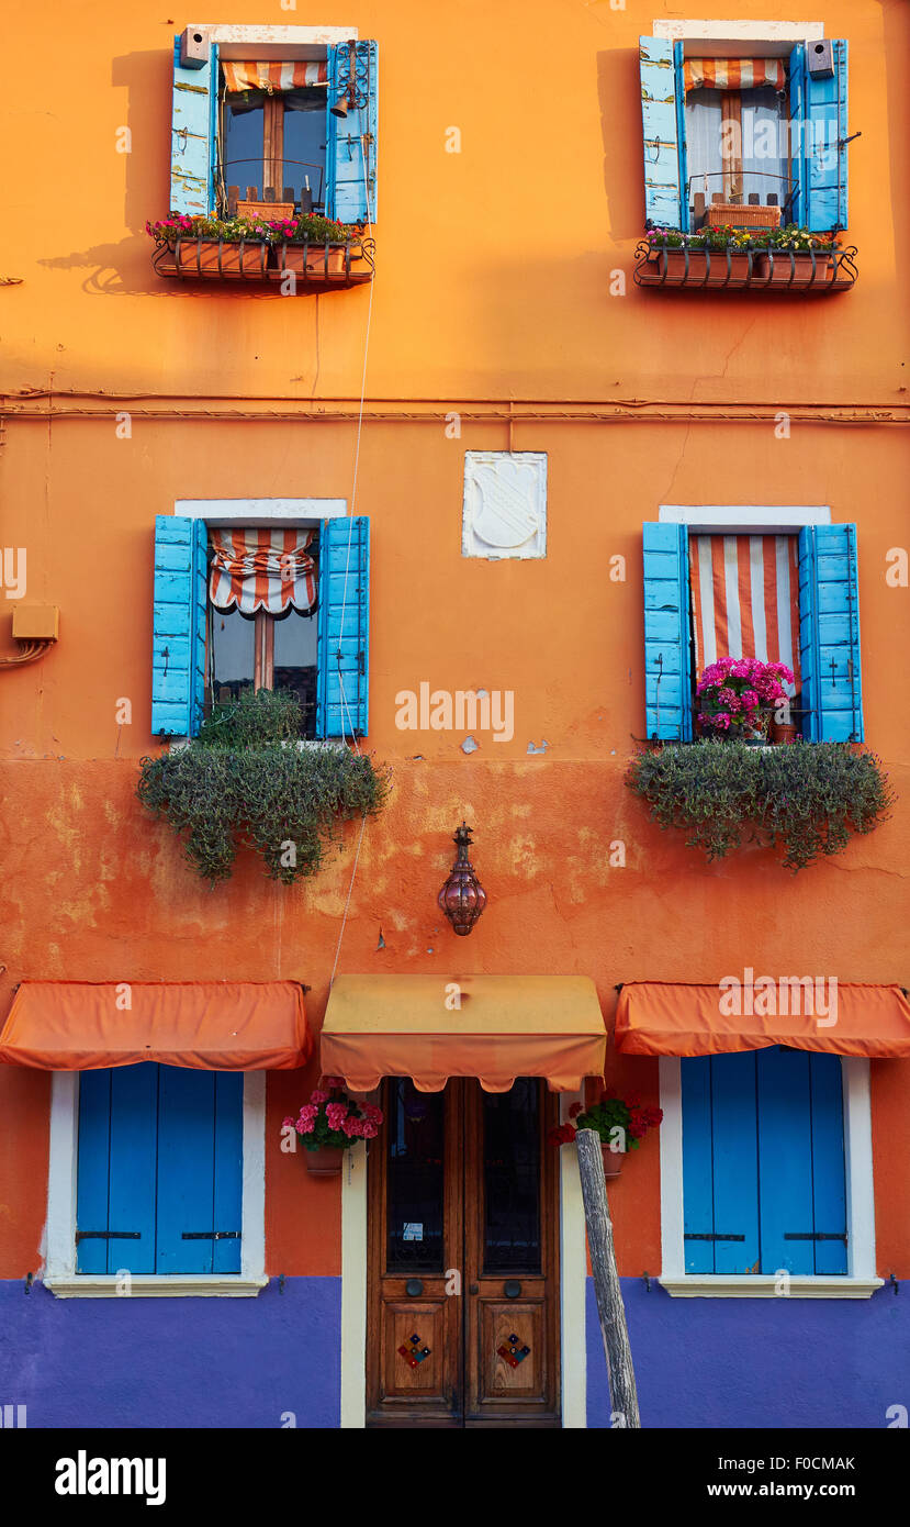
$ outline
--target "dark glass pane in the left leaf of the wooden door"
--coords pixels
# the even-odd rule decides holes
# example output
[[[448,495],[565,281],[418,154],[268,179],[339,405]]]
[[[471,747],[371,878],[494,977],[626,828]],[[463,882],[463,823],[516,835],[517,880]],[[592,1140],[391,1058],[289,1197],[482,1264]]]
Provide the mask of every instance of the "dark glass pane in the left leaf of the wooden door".
[[[388,1272],[444,1272],[444,1093],[389,1081]]]

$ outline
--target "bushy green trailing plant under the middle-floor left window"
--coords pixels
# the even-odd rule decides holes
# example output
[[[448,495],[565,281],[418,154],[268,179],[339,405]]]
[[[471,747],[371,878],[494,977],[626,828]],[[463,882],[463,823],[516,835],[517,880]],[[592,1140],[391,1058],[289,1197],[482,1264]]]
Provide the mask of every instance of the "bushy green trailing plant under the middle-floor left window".
[[[301,721],[295,695],[246,690],[215,705],[186,747],[140,760],[139,800],[171,823],[212,886],[241,847],[261,854],[272,880],[305,880],[345,822],[385,805],[388,771],[344,744],[301,744]]]

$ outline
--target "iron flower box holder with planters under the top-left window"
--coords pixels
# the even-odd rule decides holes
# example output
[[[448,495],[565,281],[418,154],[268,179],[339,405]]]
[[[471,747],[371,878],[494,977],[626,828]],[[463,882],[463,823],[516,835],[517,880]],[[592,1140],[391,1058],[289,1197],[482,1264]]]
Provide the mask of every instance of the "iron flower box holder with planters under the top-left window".
[[[353,287],[373,281],[374,241],[267,244],[261,240],[177,238],[153,253],[157,275],[182,281],[286,281],[295,290]]]

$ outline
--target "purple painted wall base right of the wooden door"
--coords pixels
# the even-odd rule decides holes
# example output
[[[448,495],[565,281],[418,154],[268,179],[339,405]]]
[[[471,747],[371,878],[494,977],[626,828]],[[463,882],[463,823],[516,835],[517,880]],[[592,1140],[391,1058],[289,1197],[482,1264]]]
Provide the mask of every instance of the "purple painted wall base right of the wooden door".
[[[870,1299],[672,1299],[623,1278],[643,1426],[886,1428],[910,1403],[910,1290]],[[588,1278],[588,1426],[609,1426]]]

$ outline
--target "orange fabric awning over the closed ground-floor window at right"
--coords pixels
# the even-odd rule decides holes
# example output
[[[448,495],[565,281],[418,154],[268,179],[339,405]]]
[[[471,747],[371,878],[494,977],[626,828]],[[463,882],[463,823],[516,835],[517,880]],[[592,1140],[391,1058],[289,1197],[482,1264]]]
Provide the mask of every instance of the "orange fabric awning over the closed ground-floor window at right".
[[[792,1049],[881,1060],[910,1058],[910,1002],[899,986],[838,983],[828,976],[725,977],[724,985],[634,982],[617,1006],[626,1055],[727,1055]]]

